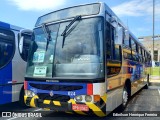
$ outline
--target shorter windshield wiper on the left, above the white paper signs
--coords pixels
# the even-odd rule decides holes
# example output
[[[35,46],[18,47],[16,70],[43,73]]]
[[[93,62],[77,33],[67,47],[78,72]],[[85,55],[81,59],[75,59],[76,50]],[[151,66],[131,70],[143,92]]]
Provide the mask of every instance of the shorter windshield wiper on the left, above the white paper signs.
[[[47,51],[49,42],[51,41],[51,31],[48,29],[48,27],[46,27],[46,24],[43,24],[42,28],[43,28],[43,32],[47,38],[47,44],[46,44],[46,51]]]

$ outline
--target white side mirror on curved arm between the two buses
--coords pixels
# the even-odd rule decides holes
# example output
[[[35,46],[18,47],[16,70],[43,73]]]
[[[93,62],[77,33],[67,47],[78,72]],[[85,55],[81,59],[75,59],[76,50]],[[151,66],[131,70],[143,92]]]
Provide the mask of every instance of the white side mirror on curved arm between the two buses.
[[[32,30],[28,30],[28,29],[23,29],[20,31],[19,33],[19,52],[20,54],[22,54],[23,52],[23,44],[24,44],[24,40],[25,40],[25,36],[31,36],[32,35]]]

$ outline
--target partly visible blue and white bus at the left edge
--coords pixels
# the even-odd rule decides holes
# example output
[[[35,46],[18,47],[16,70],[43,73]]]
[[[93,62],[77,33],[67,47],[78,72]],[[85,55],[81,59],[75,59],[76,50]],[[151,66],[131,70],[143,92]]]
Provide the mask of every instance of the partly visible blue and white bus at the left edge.
[[[26,33],[20,35],[23,31]],[[0,21],[0,105],[24,103],[23,83],[31,34],[32,31]],[[19,44],[20,38],[25,40],[23,46]]]

